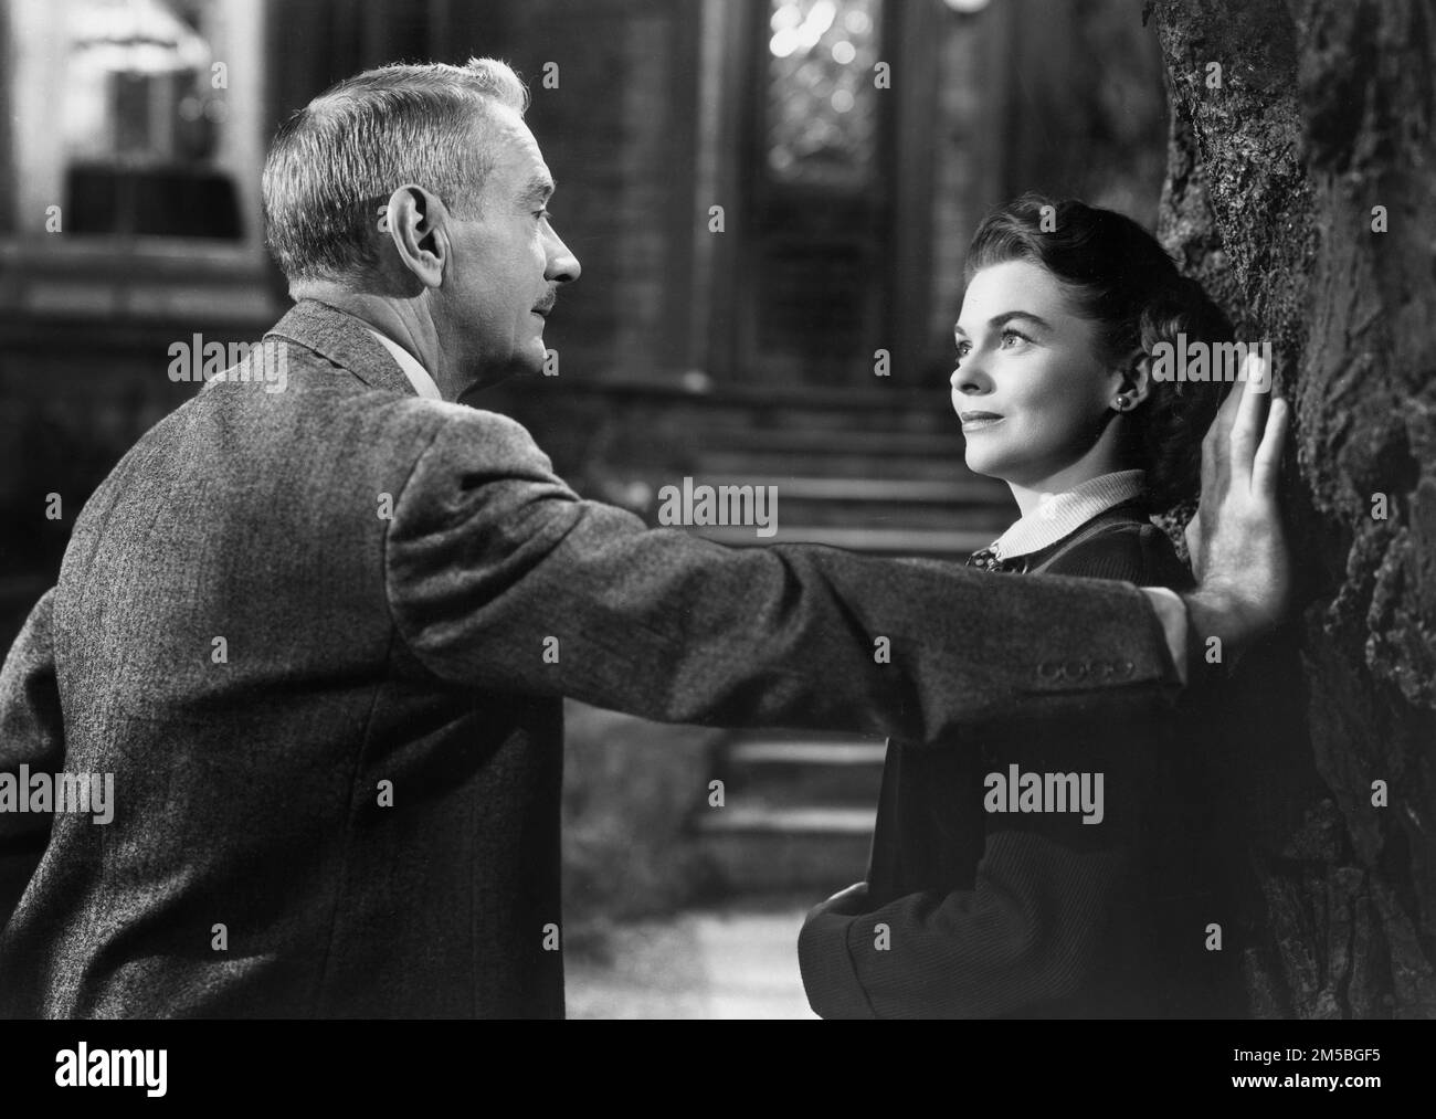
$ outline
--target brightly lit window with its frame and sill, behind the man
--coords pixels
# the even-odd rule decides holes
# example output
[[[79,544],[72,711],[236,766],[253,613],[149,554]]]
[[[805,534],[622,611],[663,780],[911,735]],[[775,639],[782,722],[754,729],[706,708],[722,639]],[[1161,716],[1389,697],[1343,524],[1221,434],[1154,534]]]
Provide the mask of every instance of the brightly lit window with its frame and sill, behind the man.
[[[0,17],[0,309],[270,312],[264,7],[11,0]]]

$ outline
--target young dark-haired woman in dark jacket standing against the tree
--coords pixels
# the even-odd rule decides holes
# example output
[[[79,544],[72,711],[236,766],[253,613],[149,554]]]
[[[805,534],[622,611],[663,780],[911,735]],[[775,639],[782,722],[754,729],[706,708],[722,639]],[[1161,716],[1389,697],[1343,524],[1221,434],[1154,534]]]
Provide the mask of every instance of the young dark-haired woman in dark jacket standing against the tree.
[[[969,563],[1188,586],[1149,514],[1195,500],[1228,386],[1159,379],[1153,349],[1229,339],[1221,313],[1136,223],[1077,201],[1024,195],[995,211],[966,273],[954,409],[968,465],[1007,481],[1021,513]],[[817,906],[800,937],[813,1008],[1241,1014],[1235,915],[1216,888],[1231,856],[1180,723],[1094,704],[1060,724],[1034,708],[974,725],[962,750],[890,743],[867,881]]]

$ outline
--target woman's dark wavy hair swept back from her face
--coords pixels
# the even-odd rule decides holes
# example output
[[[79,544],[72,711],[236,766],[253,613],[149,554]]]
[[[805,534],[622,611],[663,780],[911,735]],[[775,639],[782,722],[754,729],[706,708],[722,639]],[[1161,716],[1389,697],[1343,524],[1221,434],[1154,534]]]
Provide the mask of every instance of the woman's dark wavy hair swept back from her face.
[[[1044,207],[1051,207],[1044,214]],[[1047,218],[1044,223],[1044,217]],[[1043,226],[1050,231],[1043,231]],[[1073,198],[1024,194],[988,214],[968,249],[966,280],[991,264],[1027,260],[1071,293],[1073,309],[1097,323],[1104,362],[1124,365],[1159,342],[1229,342],[1232,328],[1202,286],[1176,270],[1136,221]],[[1146,507],[1163,513],[1200,491],[1202,437],[1221,407],[1221,381],[1150,382],[1147,399],[1127,412],[1123,463],[1146,470]]]

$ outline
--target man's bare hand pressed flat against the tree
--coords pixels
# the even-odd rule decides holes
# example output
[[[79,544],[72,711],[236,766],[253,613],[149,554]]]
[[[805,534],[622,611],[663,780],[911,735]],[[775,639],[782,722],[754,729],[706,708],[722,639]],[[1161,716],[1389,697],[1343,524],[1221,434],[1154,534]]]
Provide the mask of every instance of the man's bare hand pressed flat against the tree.
[[[1228,664],[1291,605],[1291,556],[1277,507],[1290,408],[1269,401],[1265,362],[1248,356],[1244,369],[1245,385],[1232,389],[1202,441],[1202,503],[1186,527],[1198,579],[1185,596],[1192,636],[1221,638]]]

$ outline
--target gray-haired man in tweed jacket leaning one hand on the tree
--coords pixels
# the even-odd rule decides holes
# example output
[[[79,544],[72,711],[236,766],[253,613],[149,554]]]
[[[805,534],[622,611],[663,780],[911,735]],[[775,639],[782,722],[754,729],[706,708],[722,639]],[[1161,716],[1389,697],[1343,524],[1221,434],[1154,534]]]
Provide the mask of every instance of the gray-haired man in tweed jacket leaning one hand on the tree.
[[[231,371],[134,447],[0,677],[0,773],[112,774],[115,802],[0,817],[42,852],[0,911],[4,1013],[561,1016],[563,697],[932,741],[1169,700],[1189,639],[1281,613],[1284,417],[1259,441],[1251,392],[1209,441],[1186,603],[579,500],[457,404],[541,368],[579,277],[524,106],[501,63],[391,66],[280,128],[284,391]]]

